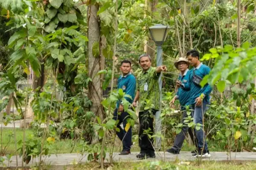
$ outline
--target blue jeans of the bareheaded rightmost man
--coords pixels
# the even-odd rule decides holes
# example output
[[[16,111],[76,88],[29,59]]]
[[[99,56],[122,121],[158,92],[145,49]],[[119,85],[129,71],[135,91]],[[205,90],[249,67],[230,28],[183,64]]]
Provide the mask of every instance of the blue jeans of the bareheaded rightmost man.
[[[206,111],[207,105],[208,105],[208,102],[203,101],[202,106],[195,106],[195,105],[191,106],[191,110],[192,110],[191,114],[194,118],[194,123],[200,123],[203,125],[203,116]],[[201,127],[199,130],[194,129],[194,132],[196,134],[196,139],[198,141],[198,149],[201,150],[204,146],[204,150],[208,150],[208,145],[205,139],[206,136],[202,128],[203,127]]]

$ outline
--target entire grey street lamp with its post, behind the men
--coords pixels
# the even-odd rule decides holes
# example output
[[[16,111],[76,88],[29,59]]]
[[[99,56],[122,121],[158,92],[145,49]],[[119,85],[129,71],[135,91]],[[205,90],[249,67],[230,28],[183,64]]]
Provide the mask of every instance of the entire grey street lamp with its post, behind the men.
[[[169,26],[164,26],[162,24],[156,24],[152,27],[149,28],[149,32],[151,34],[152,40],[155,42],[157,45],[157,66],[160,66],[163,64],[163,42],[166,40],[167,34],[170,31]],[[158,80],[159,84],[159,90],[160,90],[160,103],[162,101],[162,73],[159,77]],[[159,111],[157,111],[156,116],[155,116],[155,121],[156,121],[156,133],[161,131],[161,120],[160,120],[160,114],[161,114],[161,105]],[[157,137],[156,142],[155,142],[155,148],[160,149],[161,148],[161,138]]]

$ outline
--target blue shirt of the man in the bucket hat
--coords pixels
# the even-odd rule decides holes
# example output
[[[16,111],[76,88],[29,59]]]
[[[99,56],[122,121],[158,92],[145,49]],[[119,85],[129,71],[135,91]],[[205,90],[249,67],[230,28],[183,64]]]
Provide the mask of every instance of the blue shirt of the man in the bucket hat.
[[[179,76],[179,80],[181,81],[182,83],[182,86],[188,86],[189,84],[189,76],[190,76],[190,70],[187,69],[184,73],[183,76]],[[178,96],[178,99],[179,99],[179,102],[180,102],[180,105],[181,106],[187,106],[189,105],[189,102],[190,102],[190,91],[189,89],[185,89],[183,88],[182,86],[180,86],[180,88],[178,88],[178,91],[177,91],[177,96]]]

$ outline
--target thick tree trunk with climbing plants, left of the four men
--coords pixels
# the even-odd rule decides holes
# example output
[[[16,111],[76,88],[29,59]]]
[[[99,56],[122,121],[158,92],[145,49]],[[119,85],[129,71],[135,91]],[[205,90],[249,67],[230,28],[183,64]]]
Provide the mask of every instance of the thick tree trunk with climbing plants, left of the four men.
[[[88,23],[88,69],[89,77],[92,79],[92,82],[89,84],[89,94],[88,97],[92,101],[90,111],[92,111],[96,116],[99,116],[103,119],[104,112],[101,105],[102,102],[102,80],[100,76],[96,76],[101,66],[102,56],[93,55],[93,45],[99,44],[100,42],[100,23],[99,17],[97,17],[97,12],[99,10],[99,5],[89,5],[87,10],[87,23]],[[101,49],[101,48],[99,48]],[[104,64],[104,63],[102,63]],[[98,141],[98,135],[93,139],[93,143]]]

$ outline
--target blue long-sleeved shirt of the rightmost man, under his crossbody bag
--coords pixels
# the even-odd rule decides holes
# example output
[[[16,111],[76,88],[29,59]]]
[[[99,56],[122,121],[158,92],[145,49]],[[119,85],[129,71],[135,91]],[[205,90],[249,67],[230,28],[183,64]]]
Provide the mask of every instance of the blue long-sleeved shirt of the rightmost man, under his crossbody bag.
[[[197,68],[192,68],[190,70],[190,75],[189,75],[189,83],[187,83],[185,85],[185,89],[189,90],[190,89],[190,104],[194,105],[195,104],[195,99],[198,98],[199,96],[201,96],[201,94],[204,94],[204,101],[205,102],[209,102],[210,99],[210,93],[212,92],[212,88],[211,86],[207,83],[206,85],[204,85],[204,87],[200,87],[198,85],[196,85],[193,82],[193,76],[194,76],[194,72],[195,71],[195,75],[204,78],[207,74],[209,74],[209,72],[211,71],[211,69],[204,64],[200,64],[198,65]]]

